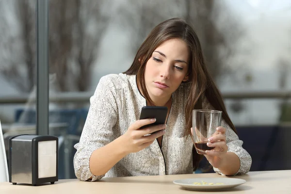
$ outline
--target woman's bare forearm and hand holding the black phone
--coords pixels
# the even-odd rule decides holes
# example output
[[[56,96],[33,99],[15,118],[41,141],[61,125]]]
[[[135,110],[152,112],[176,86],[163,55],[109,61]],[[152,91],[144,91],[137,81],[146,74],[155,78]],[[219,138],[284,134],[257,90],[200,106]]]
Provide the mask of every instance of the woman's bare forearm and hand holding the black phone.
[[[90,158],[90,170],[96,176],[102,176],[109,171],[118,161],[132,152],[138,152],[164,134],[164,125],[140,129],[144,125],[155,122],[155,119],[138,120],[129,126],[125,134],[115,139],[106,146],[95,150]],[[158,132],[157,132],[158,131]],[[156,132],[156,133],[153,133]],[[147,134],[151,135],[145,136]]]

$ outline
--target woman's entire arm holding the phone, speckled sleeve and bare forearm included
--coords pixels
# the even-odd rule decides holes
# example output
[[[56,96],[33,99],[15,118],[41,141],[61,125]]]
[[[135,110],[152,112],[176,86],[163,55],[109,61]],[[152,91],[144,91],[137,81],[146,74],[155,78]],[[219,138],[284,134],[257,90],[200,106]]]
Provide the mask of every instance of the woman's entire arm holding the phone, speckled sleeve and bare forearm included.
[[[164,125],[140,129],[155,122],[155,119],[142,119],[131,124],[125,134],[116,137],[113,127],[119,119],[116,103],[118,96],[112,88],[112,81],[103,78],[100,80],[92,98],[80,142],[75,145],[77,152],[74,168],[76,177],[80,180],[95,181],[104,177],[123,157],[144,149],[164,134]],[[159,132],[153,133],[155,131]],[[119,134],[119,131],[114,132]],[[145,136],[151,133],[153,134]]]

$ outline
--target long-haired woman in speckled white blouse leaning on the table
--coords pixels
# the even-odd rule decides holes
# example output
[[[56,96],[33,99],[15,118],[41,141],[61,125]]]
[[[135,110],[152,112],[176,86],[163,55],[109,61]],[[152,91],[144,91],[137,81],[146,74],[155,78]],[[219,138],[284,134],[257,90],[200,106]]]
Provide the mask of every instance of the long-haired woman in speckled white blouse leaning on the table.
[[[155,122],[139,120],[146,105],[167,107],[166,125],[140,129]],[[215,150],[205,155],[215,172],[247,173],[251,157],[206,69],[198,37],[184,20],[172,18],[150,32],[129,70],[100,79],[75,145],[77,178],[193,173],[203,157],[189,138],[193,109],[223,111],[222,126],[208,143]]]

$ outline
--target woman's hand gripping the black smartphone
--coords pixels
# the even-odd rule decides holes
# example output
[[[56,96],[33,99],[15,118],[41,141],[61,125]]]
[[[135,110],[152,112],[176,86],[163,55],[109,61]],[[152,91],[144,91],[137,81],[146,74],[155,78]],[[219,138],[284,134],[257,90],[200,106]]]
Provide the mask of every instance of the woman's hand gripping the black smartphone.
[[[121,136],[124,139],[123,147],[126,149],[127,153],[138,152],[146,148],[147,146],[151,145],[155,139],[165,133],[164,129],[166,128],[166,125],[155,125],[145,129],[140,129],[144,125],[154,122],[156,122],[156,119],[141,119],[135,121],[129,126],[129,129],[126,131],[126,133]]]

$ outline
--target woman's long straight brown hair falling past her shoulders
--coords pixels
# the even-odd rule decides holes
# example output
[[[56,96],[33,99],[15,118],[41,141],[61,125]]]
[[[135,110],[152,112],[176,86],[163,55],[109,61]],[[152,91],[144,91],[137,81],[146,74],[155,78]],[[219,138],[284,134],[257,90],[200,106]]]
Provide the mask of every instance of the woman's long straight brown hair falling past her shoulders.
[[[157,25],[146,37],[141,47],[138,49],[132,65],[124,72],[128,75],[137,75],[137,81],[140,86],[142,94],[150,105],[155,105],[146,91],[145,84],[145,68],[146,62],[150,59],[153,51],[159,47],[164,41],[179,38],[183,40],[190,50],[190,60],[188,67],[189,79],[191,89],[185,107],[186,130],[185,137],[191,134],[192,127],[192,111],[193,109],[202,109],[202,98],[207,97],[210,104],[215,110],[223,112],[223,119],[236,132],[223,102],[223,98],[212,80],[209,71],[205,65],[201,45],[194,29],[181,18],[172,18],[163,21]],[[193,150],[193,167],[196,170],[203,155],[196,153]]]

